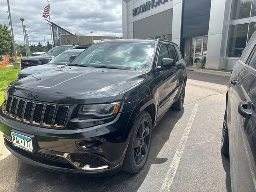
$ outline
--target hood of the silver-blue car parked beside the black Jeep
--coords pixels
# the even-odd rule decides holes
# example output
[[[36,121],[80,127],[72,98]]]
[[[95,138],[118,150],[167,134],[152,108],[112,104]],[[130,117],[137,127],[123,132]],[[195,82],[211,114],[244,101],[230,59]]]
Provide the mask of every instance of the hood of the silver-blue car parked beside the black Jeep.
[[[60,68],[60,67],[64,67],[64,66],[54,65],[54,64],[36,65],[36,66],[32,66],[32,67],[22,69],[18,73],[18,75],[32,75],[32,74],[35,74],[35,73],[40,73],[40,72],[45,71],[45,70],[50,70],[50,69]]]

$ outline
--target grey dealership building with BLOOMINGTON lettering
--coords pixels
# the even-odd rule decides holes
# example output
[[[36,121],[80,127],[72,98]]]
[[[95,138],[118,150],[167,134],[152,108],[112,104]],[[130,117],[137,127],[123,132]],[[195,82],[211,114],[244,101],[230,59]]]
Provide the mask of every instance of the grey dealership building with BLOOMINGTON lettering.
[[[256,30],[256,0],[123,0],[123,38],[162,38],[188,65],[232,70]]]

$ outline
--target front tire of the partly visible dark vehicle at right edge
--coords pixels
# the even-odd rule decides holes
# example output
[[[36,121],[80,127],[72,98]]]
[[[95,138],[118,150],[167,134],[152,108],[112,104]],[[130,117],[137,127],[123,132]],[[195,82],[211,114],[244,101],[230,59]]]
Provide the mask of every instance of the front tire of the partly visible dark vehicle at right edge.
[[[223,120],[222,136],[221,136],[221,144],[220,144],[220,151],[224,155],[229,155],[227,112],[228,112],[228,109],[226,108],[224,120]]]

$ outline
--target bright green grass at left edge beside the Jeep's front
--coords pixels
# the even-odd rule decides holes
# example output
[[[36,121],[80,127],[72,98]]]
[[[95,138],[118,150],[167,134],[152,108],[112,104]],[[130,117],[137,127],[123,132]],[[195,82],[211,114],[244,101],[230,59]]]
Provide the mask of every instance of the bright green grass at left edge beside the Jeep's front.
[[[0,67],[0,104],[4,102],[4,92],[10,82],[16,80],[20,68]]]

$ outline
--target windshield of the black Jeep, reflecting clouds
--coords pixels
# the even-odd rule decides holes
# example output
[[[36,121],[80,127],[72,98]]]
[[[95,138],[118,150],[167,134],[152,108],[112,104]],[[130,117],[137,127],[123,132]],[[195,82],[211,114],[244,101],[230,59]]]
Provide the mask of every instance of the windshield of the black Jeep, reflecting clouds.
[[[72,60],[70,66],[146,70],[150,67],[154,46],[153,43],[124,42],[94,44]]]

